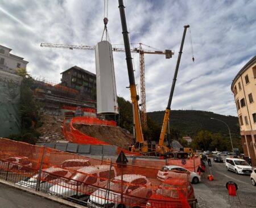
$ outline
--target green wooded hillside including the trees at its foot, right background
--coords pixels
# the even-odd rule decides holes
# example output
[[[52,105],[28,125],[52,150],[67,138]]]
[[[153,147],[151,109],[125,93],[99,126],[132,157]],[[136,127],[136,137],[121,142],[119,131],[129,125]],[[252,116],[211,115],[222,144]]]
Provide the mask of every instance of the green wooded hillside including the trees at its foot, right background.
[[[153,121],[162,125],[164,111],[147,113]],[[170,114],[170,138],[180,139],[183,136],[190,136],[193,139],[192,147],[204,150],[231,151],[228,127],[221,121],[212,120],[217,118],[224,121],[230,128],[233,146],[242,151],[240,128],[238,118],[235,116],[223,116],[206,111],[171,111]],[[168,136],[168,135],[167,135]],[[181,141],[181,143],[184,141]],[[186,146],[186,143],[183,145]]]

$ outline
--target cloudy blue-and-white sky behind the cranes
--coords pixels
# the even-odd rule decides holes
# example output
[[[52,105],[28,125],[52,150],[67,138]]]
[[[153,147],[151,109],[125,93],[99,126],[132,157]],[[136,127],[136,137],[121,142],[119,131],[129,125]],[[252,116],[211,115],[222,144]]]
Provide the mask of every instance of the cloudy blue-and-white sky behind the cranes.
[[[230,85],[256,55],[256,1],[124,1],[131,46],[143,43],[175,50],[171,59],[145,54],[147,112],[167,107],[183,26],[191,26],[184,43],[172,109],[194,109],[237,116]],[[40,43],[95,45],[104,28],[104,0],[0,0],[0,45],[29,61],[33,77],[60,82],[60,73],[77,65],[96,73],[92,50],[42,48]],[[108,3],[111,43],[123,48],[118,1]],[[144,49],[150,49],[144,46]],[[139,55],[133,54],[139,91]],[[125,54],[114,52],[117,94],[130,100]]]

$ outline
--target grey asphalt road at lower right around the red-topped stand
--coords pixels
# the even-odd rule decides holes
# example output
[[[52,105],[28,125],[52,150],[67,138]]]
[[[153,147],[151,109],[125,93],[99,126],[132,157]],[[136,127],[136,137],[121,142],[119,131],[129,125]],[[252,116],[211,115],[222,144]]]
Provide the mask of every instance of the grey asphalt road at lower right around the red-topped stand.
[[[211,169],[207,165],[207,172],[203,173],[201,183],[193,185],[196,196],[199,201],[198,207],[256,207],[256,186],[251,185],[250,175],[236,175],[232,171],[227,171],[224,163],[214,163],[212,161]],[[207,179],[210,170],[214,177],[213,181]],[[238,196],[230,196],[228,203],[228,190],[226,189],[226,182],[234,181],[238,185]]]

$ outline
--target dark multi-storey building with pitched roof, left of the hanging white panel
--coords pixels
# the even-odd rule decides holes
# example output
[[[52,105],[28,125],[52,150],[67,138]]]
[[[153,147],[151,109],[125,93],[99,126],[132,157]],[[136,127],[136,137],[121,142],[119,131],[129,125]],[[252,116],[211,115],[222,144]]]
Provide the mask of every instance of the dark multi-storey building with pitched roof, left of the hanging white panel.
[[[80,92],[88,100],[96,100],[96,74],[78,66],[63,71],[61,85]]]

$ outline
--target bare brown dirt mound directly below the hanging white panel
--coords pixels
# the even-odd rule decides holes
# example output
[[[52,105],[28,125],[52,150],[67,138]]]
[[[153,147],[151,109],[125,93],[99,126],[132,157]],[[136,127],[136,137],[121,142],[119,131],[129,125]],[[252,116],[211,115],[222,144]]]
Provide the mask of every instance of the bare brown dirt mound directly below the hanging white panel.
[[[90,137],[100,139],[101,141],[107,142],[110,145],[115,145],[126,150],[131,145],[133,140],[133,135],[119,127],[83,124],[73,124],[73,126]]]

